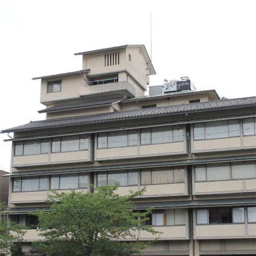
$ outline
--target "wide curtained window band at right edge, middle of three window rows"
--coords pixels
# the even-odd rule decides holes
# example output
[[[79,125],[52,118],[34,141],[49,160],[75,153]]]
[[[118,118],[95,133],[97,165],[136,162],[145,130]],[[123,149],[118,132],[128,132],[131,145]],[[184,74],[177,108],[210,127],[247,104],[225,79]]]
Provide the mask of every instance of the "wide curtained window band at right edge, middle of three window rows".
[[[195,180],[198,182],[255,178],[256,163],[253,161],[201,164],[195,167]]]

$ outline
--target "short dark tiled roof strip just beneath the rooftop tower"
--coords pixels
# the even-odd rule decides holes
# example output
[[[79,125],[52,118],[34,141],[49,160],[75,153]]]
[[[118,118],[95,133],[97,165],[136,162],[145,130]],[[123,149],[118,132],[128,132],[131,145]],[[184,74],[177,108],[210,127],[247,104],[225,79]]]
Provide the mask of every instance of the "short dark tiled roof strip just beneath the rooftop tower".
[[[39,110],[38,113],[47,113],[47,112],[55,112],[61,110],[69,110],[69,109],[80,109],[80,108],[90,108],[91,106],[102,106],[102,105],[111,105],[113,102],[121,101],[123,98],[108,98],[102,100],[94,100],[94,101],[80,101],[80,102],[72,102],[59,104],[56,106],[52,106],[47,109]]]

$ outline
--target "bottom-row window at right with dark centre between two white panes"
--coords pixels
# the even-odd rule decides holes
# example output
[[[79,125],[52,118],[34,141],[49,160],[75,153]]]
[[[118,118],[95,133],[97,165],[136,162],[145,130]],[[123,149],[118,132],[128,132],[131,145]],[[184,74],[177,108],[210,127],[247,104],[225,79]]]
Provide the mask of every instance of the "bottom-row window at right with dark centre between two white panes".
[[[196,210],[197,224],[244,223],[244,208],[209,208]]]

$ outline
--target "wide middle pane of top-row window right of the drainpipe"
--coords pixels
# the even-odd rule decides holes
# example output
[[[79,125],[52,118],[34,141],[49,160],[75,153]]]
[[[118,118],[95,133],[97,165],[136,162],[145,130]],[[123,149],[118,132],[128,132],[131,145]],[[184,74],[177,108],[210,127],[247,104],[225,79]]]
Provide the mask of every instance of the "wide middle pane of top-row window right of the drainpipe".
[[[205,123],[205,139],[228,138],[228,121]]]

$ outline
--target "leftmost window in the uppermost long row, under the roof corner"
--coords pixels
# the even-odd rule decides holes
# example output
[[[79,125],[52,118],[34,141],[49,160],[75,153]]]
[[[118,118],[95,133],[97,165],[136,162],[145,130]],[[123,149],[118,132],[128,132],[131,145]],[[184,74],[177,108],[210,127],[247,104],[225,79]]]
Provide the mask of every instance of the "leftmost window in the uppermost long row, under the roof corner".
[[[49,152],[49,139],[35,139],[15,143],[14,155],[38,155]]]

